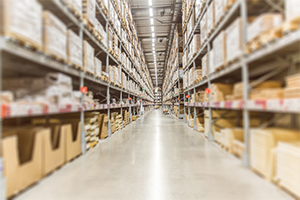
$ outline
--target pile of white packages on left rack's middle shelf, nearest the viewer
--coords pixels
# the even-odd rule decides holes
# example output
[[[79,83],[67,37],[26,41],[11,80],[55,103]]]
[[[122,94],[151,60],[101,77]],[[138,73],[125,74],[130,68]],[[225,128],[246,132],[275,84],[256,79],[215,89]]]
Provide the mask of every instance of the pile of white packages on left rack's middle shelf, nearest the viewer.
[[[80,104],[81,94],[72,91],[72,79],[60,73],[44,78],[8,78],[2,82],[3,103],[22,105]]]

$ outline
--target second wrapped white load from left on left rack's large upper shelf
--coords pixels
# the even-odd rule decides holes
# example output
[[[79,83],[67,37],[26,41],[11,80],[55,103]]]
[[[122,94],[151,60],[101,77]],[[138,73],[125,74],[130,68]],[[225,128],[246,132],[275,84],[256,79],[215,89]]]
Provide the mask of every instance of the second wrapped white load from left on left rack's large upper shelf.
[[[50,11],[43,12],[44,51],[59,60],[67,60],[67,27]]]

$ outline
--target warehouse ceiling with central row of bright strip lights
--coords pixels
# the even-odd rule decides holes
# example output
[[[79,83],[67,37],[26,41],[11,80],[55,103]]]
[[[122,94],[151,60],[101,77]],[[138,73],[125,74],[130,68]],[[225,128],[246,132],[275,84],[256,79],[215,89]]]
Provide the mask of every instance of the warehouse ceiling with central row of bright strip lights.
[[[181,23],[182,0],[128,0],[153,85],[161,87],[164,63],[176,23]],[[150,6],[149,4],[151,4]],[[150,21],[153,10],[153,28]],[[153,32],[155,37],[153,37]],[[153,42],[155,54],[153,54]],[[156,68],[155,68],[156,60]],[[156,73],[157,72],[157,73]],[[156,82],[157,80],[157,82]]]

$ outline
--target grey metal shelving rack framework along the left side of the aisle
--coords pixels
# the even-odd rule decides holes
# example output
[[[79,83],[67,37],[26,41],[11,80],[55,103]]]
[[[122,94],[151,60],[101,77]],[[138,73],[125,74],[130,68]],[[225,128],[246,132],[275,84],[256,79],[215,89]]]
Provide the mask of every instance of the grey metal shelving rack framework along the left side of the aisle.
[[[79,105],[63,105],[63,106],[53,106],[48,108],[48,110],[43,109],[32,109],[30,112],[28,112],[26,109],[24,110],[21,106],[15,106],[15,107],[9,107],[9,109],[23,109],[24,112],[21,114],[14,115],[11,110],[9,112],[4,113],[3,108],[5,108],[4,105],[1,105],[1,125],[0,130],[2,130],[2,121],[6,118],[21,118],[21,117],[33,117],[33,116],[45,116],[45,115],[53,115],[53,114],[64,114],[64,113],[71,113],[71,112],[79,112],[80,113],[80,121],[82,124],[84,124],[84,113],[87,111],[97,111],[97,110],[106,110],[109,122],[108,122],[108,134],[109,137],[111,136],[111,129],[110,129],[110,111],[111,109],[120,109],[121,115],[123,114],[123,109],[126,108],[129,110],[130,114],[130,122],[131,122],[131,113],[137,114],[139,113],[139,106],[142,104],[142,106],[152,106],[153,105],[153,86],[151,87],[149,83],[148,76],[146,77],[147,80],[143,80],[145,76],[143,74],[149,73],[147,69],[142,68],[144,73],[140,71],[140,69],[135,65],[135,62],[133,61],[133,58],[127,51],[127,48],[122,43],[122,40],[118,34],[118,40],[120,44],[120,48],[122,48],[123,52],[127,54],[127,57],[132,62],[132,65],[135,67],[136,71],[138,72],[139,76],[141,77],[142,83],[140,83],[133,75],[123,66],[123,64],[118,61],[107,49],[108,45],[108,39],[107,39],[107,47],[105,47],[104,44],[99,42],[96,37],[88,30],[88,28],[83,24],[83,22],[75,17],[75,15],[71,12],[71,9],[65,5],[62,1],[59,0],[39,0],[39,2],[43,5],[44,10],[49,10],[52,13],[54,13],[62,22],[64,22],[68,28],[74,30],[78,33],[82,41],[84,39],[89,40],[90,44],[95,49],[95,52],[98,52],[98,55],[101,53],[105,54],[105,60],[106,60],[106,72],[109,73],[109,65],[110,64],[116,64],[121,66],[122,71],[126,73],[128,76],[128,80],[133,80],[136,84],[139,85],[140,90],[141,88],[146,89],[146,94],[148,97],[142,97],[139,94],[135,94],[129,90],[125,90],[123,88],[114,86],[111,83],[105,82],[100,78],[97,78],[95,76],[89,75],[79,69],[75,69],[72,66],[69,66],[65,63],[59,62],[54,60],[53,58],[48,57],[47,55],[43,54],[43,52],[39,52],[36,50],[32,50],[31,48],[28,48],[26,46],[19,45],[18,42],[11,38],[6,38],[3,36],[0,36],[0,76],[1,78],[5,73],[7,73],[8,70],[11,70],[12,72],[19,72],[26,75],[42,75],[46,74],[47,72],[60,72],[67,74],[72,77],[72,80],[76,82],[79,86],[79,90],[83,86],[90,85],[90,87],[99,92],[99,95],[101,95],[104,100],[106,101],[105,104],[100,105],[86,105],[83,104],[83,94],[81,97],[81,103]],[[108,28],[110,27],[113,32],[116,32],[113,28],[113,25],[109,18],[107,18],[104,14],[104,11],[102,7],[96,3],[96,13],[100,13],[99,21],[102,21],[102,23],[105,23],[105,29],[106,33],[109,34]],[[99,18],[99,15],[97,15]],[[120,16],[119,16],[120,18]],[[122,20],[120,19],[122,27],[125,28],[125,25],[123,24]],[[125,28],[126,29],[126,28]],[[126,29],[127,30],[127,29]],[[131,41],[130,41],[131,42]],[[141,52],[142,53],[142,52]],[[143,53],[142,53],[143,54]],[[9,61],[9,64],[7,64],[7,61]],[[22,64],[23,66],[20,67],[18,65],[14,65],[13,63],[17,61],[26,64]],[[4,64],[4,62],[6,64]],[[144,62],[142,62],[144,64]],[[7,66],[6,66],[7,65]],[[25,68],[26,70],[23,70]],[[5,72],[5,73],[4,73]],[[2,89],[0,84],[0,89]],[[110,102],[111,97],[117,97],[122,101],[122,99],[125,97],[132,98],[130,104],[112,104]],[[139,102],[140,101],[140,102]],[[146,104],[147,101],[147,104]],[[139,103],[138,103],[139,102]],[[122,121],[123,124],[123,121]],[[2,137],[2,131],[0,131],[0,145],[1,145],[1,137]],[[86,152],[86,144],[85,144],[85,133],[84,133],[84,126],[81,126],[81,140],[82,140],[82,153],[84,154]],[[1,158],[1,146],[0,146],[0,199],[5,199],[5,179],[3,176],[3,163]]]

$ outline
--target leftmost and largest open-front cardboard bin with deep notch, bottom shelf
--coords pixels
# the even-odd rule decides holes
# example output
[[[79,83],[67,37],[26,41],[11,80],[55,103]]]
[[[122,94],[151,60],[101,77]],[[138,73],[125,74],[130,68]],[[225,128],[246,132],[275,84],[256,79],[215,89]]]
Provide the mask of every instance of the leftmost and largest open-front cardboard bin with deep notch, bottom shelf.
[[[11,197],[42,178],[42,139],[48,129],[11,128],[3,131],[2,152],[6,197]]]

